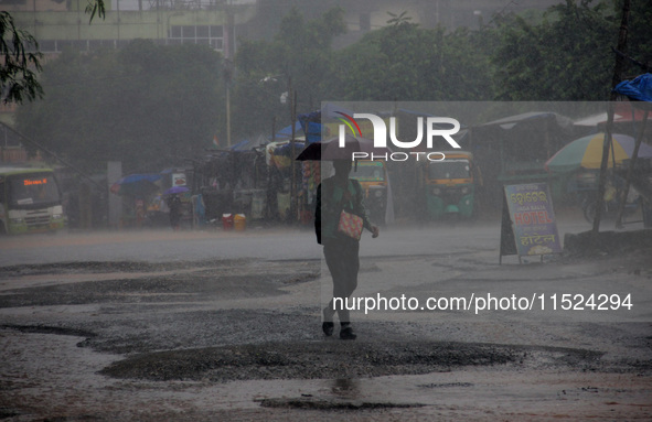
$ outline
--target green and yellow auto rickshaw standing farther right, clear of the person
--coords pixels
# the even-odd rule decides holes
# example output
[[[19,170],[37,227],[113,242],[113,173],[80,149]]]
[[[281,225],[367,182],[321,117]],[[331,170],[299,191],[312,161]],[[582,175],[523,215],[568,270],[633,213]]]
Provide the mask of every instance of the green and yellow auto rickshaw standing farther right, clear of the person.
[[[448,151],[443,155],[441,161],[428,162],[424,172],[428,217],[471,218],[479,182],[473,155],[466,151]]]

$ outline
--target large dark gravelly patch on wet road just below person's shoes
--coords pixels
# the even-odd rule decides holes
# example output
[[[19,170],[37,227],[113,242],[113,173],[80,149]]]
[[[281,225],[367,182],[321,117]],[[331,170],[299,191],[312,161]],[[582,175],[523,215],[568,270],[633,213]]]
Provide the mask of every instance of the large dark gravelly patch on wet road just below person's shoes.
[[[443,342],[282,342],[143,353],[101,370],[116,378],[161,380],[355,379],[504,365],[513,346]],[[336,387],[354,391],[354,385]]]

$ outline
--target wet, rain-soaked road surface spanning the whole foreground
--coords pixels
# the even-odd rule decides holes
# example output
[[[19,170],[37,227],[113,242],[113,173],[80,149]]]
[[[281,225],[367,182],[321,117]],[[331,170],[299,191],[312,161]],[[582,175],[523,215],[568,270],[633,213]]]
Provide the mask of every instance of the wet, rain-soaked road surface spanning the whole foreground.
[[[559,231],[582,231],[581,220]],[[363,239],[356,295],[633,293],[632,313],[355,313],[297,229],[0,239],[0,416],[12,421],[652,419],[648,251],[498,266],[495,225]]]

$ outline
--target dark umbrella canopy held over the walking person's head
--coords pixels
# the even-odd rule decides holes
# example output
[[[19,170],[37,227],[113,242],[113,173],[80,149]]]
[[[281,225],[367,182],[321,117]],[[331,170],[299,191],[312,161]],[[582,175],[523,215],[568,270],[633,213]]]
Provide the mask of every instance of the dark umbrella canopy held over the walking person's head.
[[[355,138],[348,134],[344,139],[344,148],[340,147],[339,138],[331,138],[327,141],[313,142],[306,147],[303,151],[297,156],[299,161],[333,161],[333,160],[351,160],[353,152],[366,152],[375,156],[392,153],[387,147],[376,148],[374,141],[366,138]]]

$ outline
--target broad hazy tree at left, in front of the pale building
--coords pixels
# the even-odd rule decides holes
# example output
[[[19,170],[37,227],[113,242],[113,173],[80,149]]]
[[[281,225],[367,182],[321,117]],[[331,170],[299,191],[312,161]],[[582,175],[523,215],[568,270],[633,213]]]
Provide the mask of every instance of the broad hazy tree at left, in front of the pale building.
[[[221,56],[209,46],[136,40],[121,51],[64,52],[47,63],[47,96],[18,109],[21,131],[87,171],[181,165],[210,144],[224,98]]]

